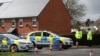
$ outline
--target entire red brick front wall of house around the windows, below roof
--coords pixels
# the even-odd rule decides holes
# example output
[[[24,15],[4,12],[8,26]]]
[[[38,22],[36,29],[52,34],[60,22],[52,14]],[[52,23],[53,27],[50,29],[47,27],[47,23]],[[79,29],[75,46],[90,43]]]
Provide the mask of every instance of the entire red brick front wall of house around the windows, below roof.
[[[36,31],[38,30],[38,23],[36,27],[32,26],[32,18],[23,18],[23,27],[19,26],[19,19],[16,18],[16,30],[18,32],[18,34],[22,34],[22,33],[27,33],[27,32],[31,32],[31,31]],[[0,20],[1,22],[1,20]],[[12,27],[11,25],[11,19],[5,19],[5,26],[4,27],[0,27],[0,32],[6,32],[7,30],[9,30],[9,28]]]

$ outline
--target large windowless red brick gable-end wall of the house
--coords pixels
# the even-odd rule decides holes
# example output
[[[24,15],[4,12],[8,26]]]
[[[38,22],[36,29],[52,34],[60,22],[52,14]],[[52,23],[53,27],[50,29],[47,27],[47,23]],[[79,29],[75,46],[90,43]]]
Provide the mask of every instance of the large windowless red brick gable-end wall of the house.
[[[39,29],[60,35],[70,34],[71,17],[61,0],[50,0],[39,15]]]

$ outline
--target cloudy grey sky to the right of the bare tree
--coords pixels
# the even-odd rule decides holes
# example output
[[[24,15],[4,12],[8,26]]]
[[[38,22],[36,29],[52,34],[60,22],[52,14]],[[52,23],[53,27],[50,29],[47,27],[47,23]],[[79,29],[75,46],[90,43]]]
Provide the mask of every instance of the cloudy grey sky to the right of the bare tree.
[[[80,0],[80,2],[86,6],[84,20],[91,19],[95,21],[100,18],[100,0]]]

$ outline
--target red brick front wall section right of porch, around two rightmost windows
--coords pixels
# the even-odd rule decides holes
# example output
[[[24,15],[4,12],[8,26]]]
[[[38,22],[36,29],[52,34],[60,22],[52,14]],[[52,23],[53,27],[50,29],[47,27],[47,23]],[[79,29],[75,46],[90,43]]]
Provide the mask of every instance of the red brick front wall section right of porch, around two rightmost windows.
[[[24,18],[24,20],[23,20],[23,22],[24,22],[23,23],[23,27],[19,26],[19,23],[18,23],[19,21],[18,20],[17,20],[17,30],[18,30],[19,34],[28,33],[28,32],[31,32],[31,31],[38,30],[38,23],[37,23],[36,27],[32,26],[32,18]]]

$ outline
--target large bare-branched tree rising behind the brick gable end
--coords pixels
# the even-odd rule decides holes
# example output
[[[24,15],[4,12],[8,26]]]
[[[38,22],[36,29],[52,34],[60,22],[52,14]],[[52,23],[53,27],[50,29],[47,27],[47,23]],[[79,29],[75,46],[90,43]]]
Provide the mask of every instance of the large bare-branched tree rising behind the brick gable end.
[[[67,8],[72,20],[82,17],[85,15],[85,5],[79,3],[79,0],[63,0],[65,7]]]

